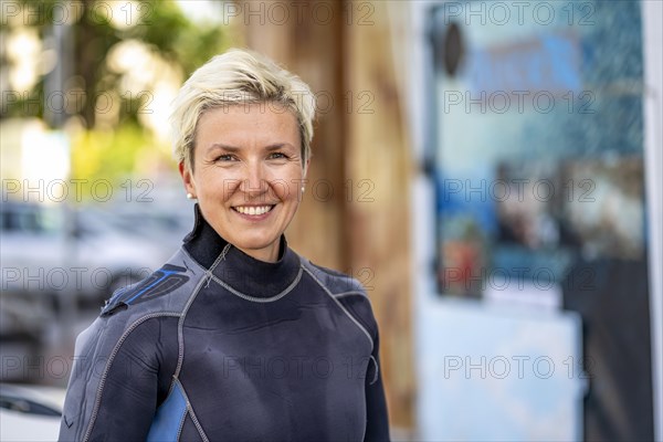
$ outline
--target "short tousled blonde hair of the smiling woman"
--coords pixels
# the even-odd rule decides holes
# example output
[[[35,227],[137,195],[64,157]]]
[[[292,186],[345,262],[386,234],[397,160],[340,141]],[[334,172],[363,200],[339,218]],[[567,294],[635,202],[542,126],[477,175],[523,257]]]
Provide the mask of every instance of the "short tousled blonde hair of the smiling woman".
[[[173,154],[193,170],[196,128],[201,115],[229,105],[275,104],[299,126],[302,167],[311,158],[315,96],[297,75],[253,51],[231,49],[200,66],[179,90],[170,115]]]

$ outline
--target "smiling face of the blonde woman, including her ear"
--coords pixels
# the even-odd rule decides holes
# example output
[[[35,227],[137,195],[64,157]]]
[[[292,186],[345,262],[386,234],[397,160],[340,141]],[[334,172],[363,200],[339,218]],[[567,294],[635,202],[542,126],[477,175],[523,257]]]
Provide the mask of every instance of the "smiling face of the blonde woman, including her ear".
[[[302,161],[291,112],[236,105],[200,117],[193,172],[180,165],[180,173],[217,233],[244,253],[274,262],[281,234],[299,206]]]

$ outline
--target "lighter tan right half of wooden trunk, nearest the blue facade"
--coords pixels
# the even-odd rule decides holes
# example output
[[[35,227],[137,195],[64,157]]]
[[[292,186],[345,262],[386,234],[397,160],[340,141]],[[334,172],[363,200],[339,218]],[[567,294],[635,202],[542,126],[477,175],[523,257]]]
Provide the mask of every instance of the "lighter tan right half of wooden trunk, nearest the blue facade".
[[[396,24],[407,2],[358,1],[348,7],[346,87],[352,93],[346,144],[347,178],[354,198],[351,266],[373,276],[373,311],[381,326],[381,358],[392,423],[413,428],[413,338],[410,254],[411,156],[403,97],[393,56]],[[396,8],[396,11],[389,11]],[[390,21],[393,17],[393,22]],[[404,57],[404,54],[400,54]],[[360,277],[361,280],[361,277]]]

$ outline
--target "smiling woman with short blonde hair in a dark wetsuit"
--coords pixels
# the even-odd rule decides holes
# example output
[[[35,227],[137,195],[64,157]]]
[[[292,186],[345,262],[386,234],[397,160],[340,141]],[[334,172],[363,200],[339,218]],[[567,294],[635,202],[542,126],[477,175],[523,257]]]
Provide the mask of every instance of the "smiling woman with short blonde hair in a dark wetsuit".
[[[388,440],[360,284],[292,251],[315,101],[248,51],[185,83],[175,151],[196,225],[76,340],[66,441]]]

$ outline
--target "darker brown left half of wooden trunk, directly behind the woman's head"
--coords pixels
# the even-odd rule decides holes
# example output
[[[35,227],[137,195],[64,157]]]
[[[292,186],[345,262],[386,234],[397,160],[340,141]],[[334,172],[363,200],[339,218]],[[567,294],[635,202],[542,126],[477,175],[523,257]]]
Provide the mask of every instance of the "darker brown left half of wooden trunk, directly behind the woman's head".
[[[333,20],[343,2],[323,1],[329,20],[308,20],[315,1],[240,3],[246,45],[299,75],[318,97],[323,112],[314,123],[313,158],[306,192],[287,238],[312,261],[335,269],[350,263],[344,181],[346,119],[343,106],[343,29]],[[276,3],[273,3],[276,4]],[[287,9],[286,9],[287,8]],[[286,10],[287,19],[281,20]],[[324,18],[320,12],[320,18]]]

